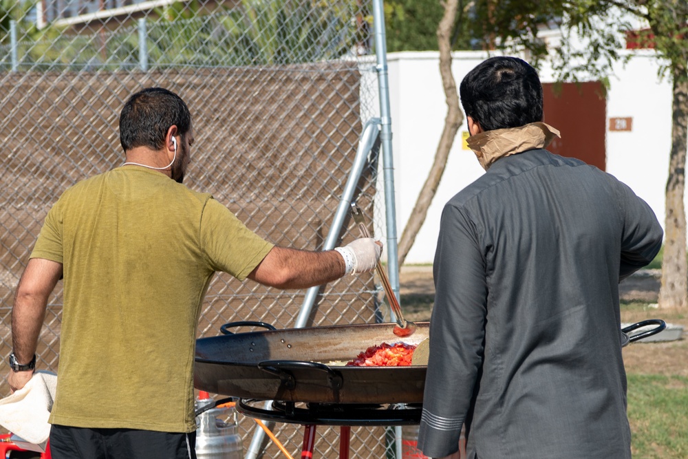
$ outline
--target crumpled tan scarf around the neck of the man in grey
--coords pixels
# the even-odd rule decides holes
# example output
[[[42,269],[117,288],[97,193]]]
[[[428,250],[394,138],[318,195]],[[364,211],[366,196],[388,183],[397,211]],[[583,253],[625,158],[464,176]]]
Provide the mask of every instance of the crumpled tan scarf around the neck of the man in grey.
[[[483,169],[504,156],[515,155],[527,150],[546,148],[555,137],[561,138],[557,129],[544,122],[509,129],[484,131],[466,139]]]

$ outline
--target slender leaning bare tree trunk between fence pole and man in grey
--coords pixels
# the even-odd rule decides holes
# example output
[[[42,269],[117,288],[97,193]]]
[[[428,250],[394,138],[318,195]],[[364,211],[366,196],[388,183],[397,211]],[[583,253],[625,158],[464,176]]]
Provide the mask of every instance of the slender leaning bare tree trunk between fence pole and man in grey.
[[[444,118],[444,129],[440,137],[440,144],[435,153],[435,160],[423,184],[416,206],[411,211],[409,221],[401,234],[398,244],[399,266],[404,264],[406,256],[416,240],[418,231],[425,221],[430,204],[435,197],[437,187],[440,184],[444,167],[447,166],[449,151],[454,143],[456,132],[464,121],[464,115],[459,107],[459,96],[456,83],[451,74],[451,29],[458,9],[458,0],[446,0],[444,2],[444,16],[437,28],[437,40],[440,45],[440,75],[444,86],[444,97],[447,101],[447,117]]]

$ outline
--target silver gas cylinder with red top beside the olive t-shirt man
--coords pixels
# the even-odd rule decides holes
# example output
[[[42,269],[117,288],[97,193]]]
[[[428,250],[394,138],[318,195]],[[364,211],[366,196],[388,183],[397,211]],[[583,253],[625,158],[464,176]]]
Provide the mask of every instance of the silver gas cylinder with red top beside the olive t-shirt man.
[[[208,392],[201,391],[196,407],[215,403]],[[196,416],[197,459],[242,459],[244,446],[237,433],[234,407],[212,408]]]

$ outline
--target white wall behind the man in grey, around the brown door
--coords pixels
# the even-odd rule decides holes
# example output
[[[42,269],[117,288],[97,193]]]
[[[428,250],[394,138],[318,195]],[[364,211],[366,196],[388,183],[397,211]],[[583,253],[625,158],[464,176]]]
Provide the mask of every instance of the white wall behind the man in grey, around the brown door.
[[[483,52],[453,54],[456,85],[480,63]],[[389,64],[392,149],[398,237],[427,178],[444,127],[447,106],[439,72],[438,52],[401,52],[387,56]],[[632,117],[631,132],[607,132],[607,171],[645,199],[664,224],[664,189],[671,147],[671,85],[657,76],[659,63],[652,52],[634,54],[610,77],[607,114]],[[552,82],[547,71],[543,83]],[[608,124],[608,123],[607,123]],[[557,127],[557,126],[555,126]],[[431,263],[444,203],[484,173],[469,149],[462,149],[459,129],[436,197],[405,263]]]

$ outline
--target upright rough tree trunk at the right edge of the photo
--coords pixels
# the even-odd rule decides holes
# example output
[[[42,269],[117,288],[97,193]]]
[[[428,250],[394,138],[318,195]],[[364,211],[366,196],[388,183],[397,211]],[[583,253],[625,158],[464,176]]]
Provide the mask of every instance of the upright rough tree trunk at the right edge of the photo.
[[[685,191],[686,142],[688,135],[688,69],[674,63],[671,106],[671,157],[662,263],[660,308],[685,308],[688,304],[688,264],[686,261],[686,215],[683,205]]]

